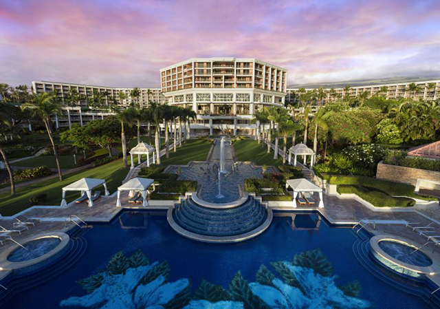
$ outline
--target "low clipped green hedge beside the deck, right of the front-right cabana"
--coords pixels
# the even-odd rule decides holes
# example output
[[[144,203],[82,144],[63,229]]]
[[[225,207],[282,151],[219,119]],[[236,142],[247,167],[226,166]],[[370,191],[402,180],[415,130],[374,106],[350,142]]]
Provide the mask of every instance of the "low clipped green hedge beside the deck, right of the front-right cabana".
[[[376,207],[410,207],[415,204],[415,200],[410,198],[394,198],[374,188],[357,185],[340,184],[338,185],[338,193],[354,193]]]

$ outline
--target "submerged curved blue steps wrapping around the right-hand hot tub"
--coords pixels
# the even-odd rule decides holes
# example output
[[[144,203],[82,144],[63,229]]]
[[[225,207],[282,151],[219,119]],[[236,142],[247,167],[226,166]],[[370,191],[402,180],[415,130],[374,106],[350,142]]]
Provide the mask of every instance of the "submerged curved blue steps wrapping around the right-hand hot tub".
[[[367,232],[361,231],[358,234],[353,232],[353,235],[357,238],[353,244],[353,253],[366,270],[387,284],[420,297],[432,308],[440,308],[440,295],[437,295],[438,292],[431,294],[432,291],[438,288],[437,285],[429,279],[406,277],[387,268],[373,257],[370,248],[370,235]]]

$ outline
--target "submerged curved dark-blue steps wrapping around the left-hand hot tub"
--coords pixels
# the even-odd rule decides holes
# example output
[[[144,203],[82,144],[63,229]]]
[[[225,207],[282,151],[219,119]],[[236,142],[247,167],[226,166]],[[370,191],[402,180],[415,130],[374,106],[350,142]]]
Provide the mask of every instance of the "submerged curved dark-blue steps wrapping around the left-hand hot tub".
[[[0,281],[0,284],[8,288],[8,290],[0,288],[0,306],[14,294],[34,286],[39,286],[61,275],[61,273],[64,273],[65,270],[73,266],[85,253],[87,242],[83,236],[87,231],[89,231],[89,228],[80,228],[78,226],[72,228],[67,232],[70,237],[69,245],[65,252],[56,260],[34,271],[30,270],[23,274],[13,272]]]

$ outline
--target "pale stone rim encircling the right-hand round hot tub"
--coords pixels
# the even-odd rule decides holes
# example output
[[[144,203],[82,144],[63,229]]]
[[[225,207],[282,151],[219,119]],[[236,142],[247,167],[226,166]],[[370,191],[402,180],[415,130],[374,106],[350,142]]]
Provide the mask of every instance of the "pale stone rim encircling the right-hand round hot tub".
[[[380,248],[379,243],[382,241],[391,241],[391,242],[397,242],[399,244],[404,244],[406,246],[410,246],[411,248],[419,248],[417,245],[415,245],[410,239],[407,239],[405,237],[397,236],[397,235],[375,235],[370,238],[370,246],[371,250],[386,259],[388,262],[391,262],[397,266],[400,266],[402,268],[406,268],[408,270],[411,270],[415,273],[421,273],[424,275],[436,275],[440,273],[440,265],[435,264],[436,258],[430,253],[429,251],[424,250],[423,248],[420,248],[419,251],[423,253],[424,255],[428,256],[430,260],[432,261],[432,264],[430,266],[415,266],[412,264],[408,264],[405,262],[399,261],[399,259],[395,259],[391,255],[388,255],[382,248]]]

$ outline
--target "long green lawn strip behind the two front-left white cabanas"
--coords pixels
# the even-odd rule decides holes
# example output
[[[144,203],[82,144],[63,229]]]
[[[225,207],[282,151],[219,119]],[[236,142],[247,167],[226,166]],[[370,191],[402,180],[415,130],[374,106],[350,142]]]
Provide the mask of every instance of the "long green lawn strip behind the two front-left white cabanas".
[[[67,186],[67,184],[71,184],[85,177],[105,179],[109,192],[113,193],[122,184],[122,180],[124,180],[128,172],[129,167],[124,169],[122,167],[122,159],[120,159],[94,169],[69,173],[64,175],[62,182],[59,182],[58,178],[54,178],[18,188],[17,196],[14,198],[10,198],[8,191],[0,194],[0,213],[1,215],[14,215],[15,213],[19,213],[32,206],[32,203],[29,202],[32,196],[41,193],[47,194],[47,200],[43,205],[59,205],[61,204],[61,189]],[[102,191],[102,188],[98,190]],[[67,192],[66,200],[67,202],[72,202],[72,200],[75,200],[78,196],[78,192]]]

